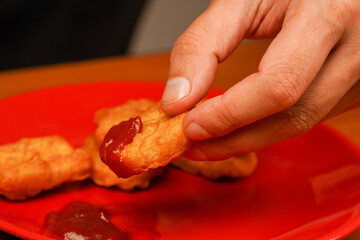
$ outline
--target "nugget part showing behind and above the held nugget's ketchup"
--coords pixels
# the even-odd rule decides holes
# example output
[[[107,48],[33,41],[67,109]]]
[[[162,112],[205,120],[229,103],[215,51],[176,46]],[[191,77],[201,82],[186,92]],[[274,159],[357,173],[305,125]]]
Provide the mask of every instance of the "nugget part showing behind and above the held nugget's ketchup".
[[[114,108],[104,108],[95,114],[95,137],[100,145],[109,129],[119,122],[136,117],[156,102],[150,99],[129,100]]]

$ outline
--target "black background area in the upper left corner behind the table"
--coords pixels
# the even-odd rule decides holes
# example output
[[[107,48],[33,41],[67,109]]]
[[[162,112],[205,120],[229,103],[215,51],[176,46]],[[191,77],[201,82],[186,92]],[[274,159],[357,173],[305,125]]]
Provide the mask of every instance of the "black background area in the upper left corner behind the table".
[[[146,0],[2,0],[0,70],[126,53]]]

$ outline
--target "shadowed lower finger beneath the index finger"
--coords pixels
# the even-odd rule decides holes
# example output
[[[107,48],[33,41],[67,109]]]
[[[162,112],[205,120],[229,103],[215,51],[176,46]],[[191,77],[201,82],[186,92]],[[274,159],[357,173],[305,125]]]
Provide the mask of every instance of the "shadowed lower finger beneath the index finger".
[[[217,160],[256,151],[303,134],[335,108],[343,108],[339,103],[345,104],[344,108],[357,104],[360,57],[354,49],[344,45],[334,51],[304,95],[291,108],[226,136],[195,142],[186,156],[196,160]]]

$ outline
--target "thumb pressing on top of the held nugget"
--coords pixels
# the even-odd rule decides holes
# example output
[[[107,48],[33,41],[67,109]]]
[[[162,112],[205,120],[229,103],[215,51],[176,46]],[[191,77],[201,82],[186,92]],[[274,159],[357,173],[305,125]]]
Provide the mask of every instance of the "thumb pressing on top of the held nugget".
[[[219,62],[243,39],[256,1],[212,1],[176,41],[170,57],[163,110],[171,115],[193,107],[209,91]],[[226,14],[224,14],[226,13]]]

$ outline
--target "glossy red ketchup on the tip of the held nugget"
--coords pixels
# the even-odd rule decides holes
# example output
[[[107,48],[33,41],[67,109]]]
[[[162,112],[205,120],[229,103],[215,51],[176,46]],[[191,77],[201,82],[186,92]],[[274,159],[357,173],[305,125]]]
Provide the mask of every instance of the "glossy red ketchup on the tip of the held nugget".
[[[101,160],[108,165],[118,177],[124,177],[124,175],[126,175],[120,153],[126,145],[133,141],[135,135],[141,131],[141,118],[130,118],[128,121],[123,121],[113,126],[100,145]]]

